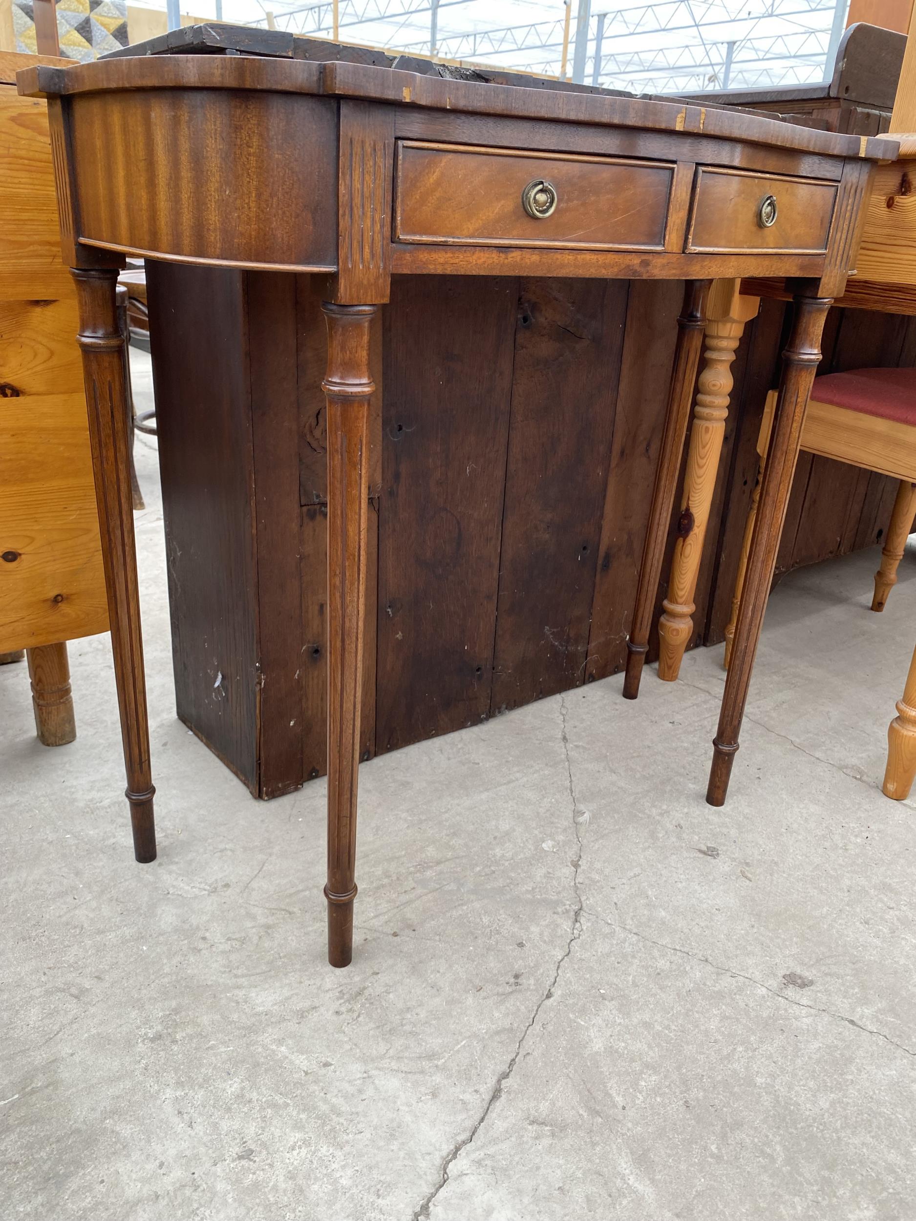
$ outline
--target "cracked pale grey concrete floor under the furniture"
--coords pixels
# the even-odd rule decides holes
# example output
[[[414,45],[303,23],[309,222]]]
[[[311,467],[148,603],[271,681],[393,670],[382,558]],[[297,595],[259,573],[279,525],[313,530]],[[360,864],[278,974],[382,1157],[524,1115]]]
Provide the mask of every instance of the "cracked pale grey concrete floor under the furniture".
[[[340,972],[324,781],[253,801],[175,719],[138,468],[155,864],[107,637],[67,747],[0,669],[4,1221],[916,1217],[916,819],[879,791],[916,556],[883,615],[874,551],[779,586],[724,810],[721,648],[363,767]]]

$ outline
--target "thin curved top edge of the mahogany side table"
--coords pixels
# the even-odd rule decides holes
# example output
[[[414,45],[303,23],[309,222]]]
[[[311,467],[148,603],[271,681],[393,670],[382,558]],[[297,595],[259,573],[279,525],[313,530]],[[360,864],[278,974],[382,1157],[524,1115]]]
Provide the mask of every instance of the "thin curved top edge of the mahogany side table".
[[[169,88],[305,93],[452,112],[685,132],[828,156],[874,161],[896,156],[893,137],[876,139],[821,132],[680,100],[545,93],[517,85],[449,81],[365,63],[244,55],[162,55],[96,60],[68,68],[29,67],[17,73],[17,84],[26,96]]]

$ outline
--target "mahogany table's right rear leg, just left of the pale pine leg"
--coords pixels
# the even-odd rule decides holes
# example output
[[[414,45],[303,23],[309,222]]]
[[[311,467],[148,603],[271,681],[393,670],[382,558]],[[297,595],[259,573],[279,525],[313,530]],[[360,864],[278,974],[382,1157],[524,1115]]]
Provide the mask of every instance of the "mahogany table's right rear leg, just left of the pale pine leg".
[[[658,578],[664,558],[664,542],[668,536],[668,524],[678,485],[680,455],[684,452],[690,398],[694,393],[696,368],[700,363],[703,311],[710,284],[710,280],[688,280],[684,284],[684,304],[678,319],[678,347],[668,389],[668,410],[664,418],[662,449],[658,455],[649,530],[642,549],[642,564],[639,570],[636,606],[633,610],[633,623],[627,641],[627,675],[623,683],[625,700],[635,700],[639,695],[642,665],[649,650],[649,630],[652,626],[652,610],[655,609]]]

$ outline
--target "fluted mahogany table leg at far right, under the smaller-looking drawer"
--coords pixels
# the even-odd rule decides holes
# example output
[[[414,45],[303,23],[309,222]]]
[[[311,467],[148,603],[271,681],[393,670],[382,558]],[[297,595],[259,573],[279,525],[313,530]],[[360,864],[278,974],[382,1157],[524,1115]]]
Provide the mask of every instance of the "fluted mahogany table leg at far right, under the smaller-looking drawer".
[[[829,298],[800,294],[795,297],[795,319],[789,344],[783,353],[779,394],[760,490],[757,521],[747,556],[718,731],[713,739],[712,768],[706,790],[706,800],[711,806],[724,805],[728,792],[728,778],[738,750],[754,656],[763,625],[779,536],[799,457],[805,408],[821,360],[821,332],[831,304]]]

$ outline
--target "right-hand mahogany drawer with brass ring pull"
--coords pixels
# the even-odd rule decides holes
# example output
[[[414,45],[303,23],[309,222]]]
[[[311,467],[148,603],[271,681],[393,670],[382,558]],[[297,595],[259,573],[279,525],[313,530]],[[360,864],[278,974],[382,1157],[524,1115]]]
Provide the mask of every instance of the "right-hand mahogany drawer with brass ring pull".
[[[760,221],[763,200],[776,220]],[[837,201],[837,183],[699,166],[685,249],[694,253],[822,254]]]

